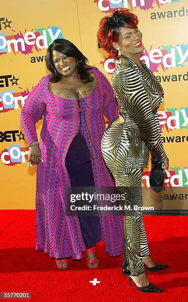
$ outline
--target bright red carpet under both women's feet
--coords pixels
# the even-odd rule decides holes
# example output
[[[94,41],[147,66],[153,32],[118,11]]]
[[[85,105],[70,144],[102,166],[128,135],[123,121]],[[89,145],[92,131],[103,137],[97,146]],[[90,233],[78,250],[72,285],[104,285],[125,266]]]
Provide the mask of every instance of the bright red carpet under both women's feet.
[[[104,256],[102,243],[96,246],[98,269],[87,268],[86,255],[82,261],[70,260],[67,270],[56,268],[54,259],[35,252],[34,211],[1,210],[0,292],[31,292],[30,301],[38,302],[188,301],[188,217],[145,216],[144,222],[153,259],[169,264],[160,272],[148,272],[150,281],[163,289],[161,294],[128,287],[121,274],[122,257]],[[96,286],[89,282],[94,278],[101,281]]]

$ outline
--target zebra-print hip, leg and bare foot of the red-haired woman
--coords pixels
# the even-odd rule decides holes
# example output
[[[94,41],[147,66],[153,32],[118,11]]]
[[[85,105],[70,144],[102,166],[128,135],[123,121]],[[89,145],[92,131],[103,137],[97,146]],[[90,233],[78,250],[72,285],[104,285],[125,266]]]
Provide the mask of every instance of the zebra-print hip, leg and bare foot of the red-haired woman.
[[[138,287],[149,285],[144,270],[143,256],[150,257],[142,219],[142,172],[132,169],[134,158],[129,156],[131,146],[127,141],[124,123],[110,124],[103,135],[101,151],[111,170],[124,204],[124,254],[122,268],[130,270],[130,276]],[[129,159],[128,159],[129,156]],[[126,168],[125,168],[126,167]],[[123,197],[123,195],[122,195]],[[146,254],[145,254],[146,253]],[[157,290],[157,289],[155,289]]]

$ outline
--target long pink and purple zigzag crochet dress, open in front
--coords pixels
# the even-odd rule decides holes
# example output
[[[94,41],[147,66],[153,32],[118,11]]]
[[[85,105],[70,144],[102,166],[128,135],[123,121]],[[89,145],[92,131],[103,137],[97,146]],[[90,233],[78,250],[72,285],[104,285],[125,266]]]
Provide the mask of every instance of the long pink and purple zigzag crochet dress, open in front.
[[[65,188],[71,187],[71,171],[67,165],[76,163],[72,162],[70,153],[70,150],[74,151],[72,148],[76,139],[78,143],[85,139],[87,146],[84,148],[87,147],[91,155],[88,161],[93,170],[94,186],[115,187],[103,161],[100,143],[105,130],[103,115],[109,120],[118,116],[117,105],[106,77],[97,68],[93,68],[92,72],[97,78],[97,87],[80,100],[82,114],[79,113],[77,100],[63,99],[48,90],[52,75],[40,79],[21,111],[21,124],[28,145],[37,140],[35,123],[43,115],[40,133],[43,163],[37,165],[36,174],[36,250],[44,250],[51,257],[81,259],[82,252],[87,248],[78,216],[65,215],[69,202]],[[83,151],[82,148],[80,150]],[[87,151],[85,155],[86,159]],[[78,154],[78,163],[79,160]],[[120,255],[123,243],[122,217],[99,216],[99,227],[105,251],[109,256]]]

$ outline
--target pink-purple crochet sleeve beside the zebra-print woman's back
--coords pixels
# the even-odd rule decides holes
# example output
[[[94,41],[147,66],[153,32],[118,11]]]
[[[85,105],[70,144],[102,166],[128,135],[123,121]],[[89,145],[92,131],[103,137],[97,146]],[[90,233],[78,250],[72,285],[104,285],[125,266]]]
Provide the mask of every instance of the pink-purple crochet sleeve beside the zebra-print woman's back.
[[[106,76],[104,76],[102,73],[101,76],[104,87],[103,114],[109,121],[111,121],[113,118],[118,117],[118,107],[112,86],[110,85]]]

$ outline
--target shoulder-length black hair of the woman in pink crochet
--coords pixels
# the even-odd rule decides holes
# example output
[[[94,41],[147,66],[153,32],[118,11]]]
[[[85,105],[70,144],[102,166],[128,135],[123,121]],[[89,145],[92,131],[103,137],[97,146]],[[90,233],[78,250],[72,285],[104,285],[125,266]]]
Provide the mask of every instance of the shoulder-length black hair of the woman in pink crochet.
[[[50,82],[56,83],[62,78],[62,75],[58,73],[52,60],[53,50],[59,51],[67,57],[75,58],[78,74],[83,83],[92,82],[94,80],[94,77],[89,73],[89,70],[93,67],[88,65],[88,59],[81,53],[81,51],[72,42],[66,39],[55,39],[49,45],[46,55],[46,67],[53,75],[50,78]]]

